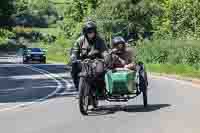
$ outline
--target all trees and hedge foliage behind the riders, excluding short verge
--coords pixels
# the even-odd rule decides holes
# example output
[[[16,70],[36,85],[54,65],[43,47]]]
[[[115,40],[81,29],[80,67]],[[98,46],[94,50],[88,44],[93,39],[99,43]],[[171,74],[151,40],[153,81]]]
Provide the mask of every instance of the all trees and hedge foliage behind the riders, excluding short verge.
[[[118,35],[141,42],[138,59],[147,63],[198,67],[200,62],[198,41],[187,41],[200,39],[199,0],[2,0],[0,19],[1,27],[20,25],[0,31],[1,42],[12,32],[40,33],[46,37],[37,41],[68,47],[84,22],[94,20],[108,43]]]

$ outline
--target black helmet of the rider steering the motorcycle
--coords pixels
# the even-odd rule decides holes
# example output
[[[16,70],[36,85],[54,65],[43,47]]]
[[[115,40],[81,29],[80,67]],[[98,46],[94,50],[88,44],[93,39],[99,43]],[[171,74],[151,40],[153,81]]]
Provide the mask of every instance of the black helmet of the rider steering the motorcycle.
[[[91,32],[97,32],[97,26],[93,21],[88,21],[83,27],[83,33],[91,33]]]

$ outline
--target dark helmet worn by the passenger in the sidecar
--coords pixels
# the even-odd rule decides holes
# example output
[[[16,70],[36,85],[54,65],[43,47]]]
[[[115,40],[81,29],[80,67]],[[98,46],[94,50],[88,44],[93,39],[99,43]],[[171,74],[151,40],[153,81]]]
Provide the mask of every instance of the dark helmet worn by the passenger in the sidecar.
[[[126,42],[123,37],[118,36],[112,40],[112,48],[116,49],[118,53],[124,52],[126,47]]]

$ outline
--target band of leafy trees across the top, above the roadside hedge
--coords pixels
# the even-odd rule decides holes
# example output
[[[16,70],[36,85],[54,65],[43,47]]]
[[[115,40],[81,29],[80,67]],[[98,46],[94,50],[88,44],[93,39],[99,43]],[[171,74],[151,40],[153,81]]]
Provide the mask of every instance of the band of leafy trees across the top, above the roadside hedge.
[[[108,41],[117,35],[149,38],[152,33],[154,39],[198,40],[199,14],[198,0],[3,0],[0,5],[1,25],[8,25],[11,15],[32,16],[47,25],[60,21],[66,36],[76,38],[83,22],[92,18]]]

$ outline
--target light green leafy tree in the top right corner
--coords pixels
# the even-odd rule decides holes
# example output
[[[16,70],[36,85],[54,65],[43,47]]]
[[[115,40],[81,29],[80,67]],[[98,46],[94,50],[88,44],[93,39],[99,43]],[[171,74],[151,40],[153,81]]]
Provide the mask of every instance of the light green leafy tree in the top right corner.
[[[198,0],[162,0],[158,4],[162,10],[161,14],[154,18],[155,35],[158,38],[199,38]]]

